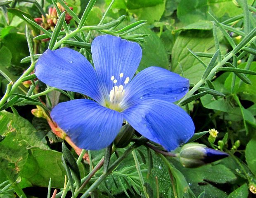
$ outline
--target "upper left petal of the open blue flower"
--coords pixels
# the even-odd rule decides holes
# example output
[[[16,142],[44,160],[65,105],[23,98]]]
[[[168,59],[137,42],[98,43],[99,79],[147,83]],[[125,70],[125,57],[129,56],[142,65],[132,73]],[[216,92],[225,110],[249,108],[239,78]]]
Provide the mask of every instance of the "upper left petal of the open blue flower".
[[[36,76],[45,84],[83,93],[100,102],[96,72],[80,53],[69,48],[48,49],[36,63]]]

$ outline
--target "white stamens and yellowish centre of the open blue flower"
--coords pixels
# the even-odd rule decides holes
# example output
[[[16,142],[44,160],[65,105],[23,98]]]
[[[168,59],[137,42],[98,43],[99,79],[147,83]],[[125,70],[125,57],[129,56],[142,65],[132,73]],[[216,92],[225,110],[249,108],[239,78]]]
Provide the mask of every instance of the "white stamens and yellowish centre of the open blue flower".
[[[120,73],[119,75],[120,79],[123,78],[123,73]],[[126,86],[126,84],[128,84],[130,78],[126,77],[125,81],[124,81],[124,86]],[[125,89],[124,86],[122,84],[117,85],[117,80],[115,79],[114,76],[111,76],[111,81],[113,82],[113,89],[111,89],[110,93],[109,93],[109,105],[108,107],[110,109],[114,109],[116,111],[121,111],[121,107],[119,106],[119,103],[123,100],[123,97],[125,95]]]

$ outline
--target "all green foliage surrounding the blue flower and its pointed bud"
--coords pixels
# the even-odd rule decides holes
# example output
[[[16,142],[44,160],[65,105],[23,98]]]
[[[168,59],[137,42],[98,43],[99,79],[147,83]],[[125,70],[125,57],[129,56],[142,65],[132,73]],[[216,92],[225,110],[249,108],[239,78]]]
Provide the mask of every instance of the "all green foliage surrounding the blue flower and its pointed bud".
[[[0,198],[253,197],[255,5],[254,0],[0,0]],[[43,84],[34,68],[46,49],[65,46],[92,61],[92,40],[103,34],[140,44],[138,71],[159,66],[189,79],[190,91],[177,105],[194,121],[192,141],[230,156],[185,168],[177,158],[180,147],[168,153],[136,132],[125,148],[76,147],[49,112],[84,96]],[[209,135],[211,128],[217,137]],[[36,193],[42,187],[48,191]]]

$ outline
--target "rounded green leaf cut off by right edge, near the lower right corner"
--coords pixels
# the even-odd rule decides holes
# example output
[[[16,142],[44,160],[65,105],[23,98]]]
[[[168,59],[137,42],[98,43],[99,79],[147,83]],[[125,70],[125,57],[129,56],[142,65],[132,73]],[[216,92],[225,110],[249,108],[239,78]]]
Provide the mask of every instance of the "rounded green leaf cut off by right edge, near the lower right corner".
[[[256,175],[256,138],[250,140],[245,149],[245,158],[251,172]]]

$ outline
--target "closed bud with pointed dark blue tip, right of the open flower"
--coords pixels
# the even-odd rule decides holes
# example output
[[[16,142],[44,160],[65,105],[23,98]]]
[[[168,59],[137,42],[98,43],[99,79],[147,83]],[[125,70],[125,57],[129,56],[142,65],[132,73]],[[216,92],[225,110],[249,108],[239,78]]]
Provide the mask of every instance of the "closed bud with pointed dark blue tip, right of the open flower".
[[[215,149],[210,149],[204,144],[190,143],[182,147],[178,156],[180,163],[184,167],[196,168],[206,163],[225,158],[228,154]]]

